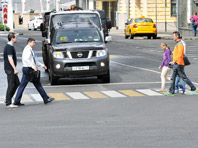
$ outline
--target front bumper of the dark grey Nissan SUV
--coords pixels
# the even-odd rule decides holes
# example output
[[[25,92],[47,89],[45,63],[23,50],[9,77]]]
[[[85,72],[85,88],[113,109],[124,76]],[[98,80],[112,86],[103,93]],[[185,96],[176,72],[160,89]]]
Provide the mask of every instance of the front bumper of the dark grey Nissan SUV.
[[[53,75],[56,77],[75,78],[100,76],[107,74],[109,71],[108,55],[90,59],[53,59],[52,61]],[[101,62],[103,62],[105,66],[101,66]],[[89,70],[74,70],[73,68],[75,67],[89,67]]]

